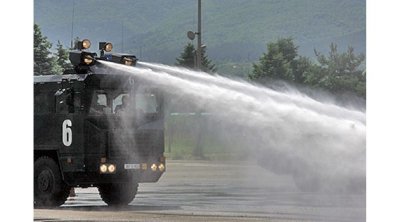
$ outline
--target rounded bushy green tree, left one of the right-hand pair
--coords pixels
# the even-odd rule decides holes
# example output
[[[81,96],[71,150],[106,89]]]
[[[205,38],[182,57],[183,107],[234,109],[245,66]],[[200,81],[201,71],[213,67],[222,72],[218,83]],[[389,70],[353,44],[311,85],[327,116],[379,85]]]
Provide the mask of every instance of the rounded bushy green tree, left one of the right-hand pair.
[[[267,44],[267,53],[259,59],[259,64],[253,64],[252,80],[263,78],[282,79],[289,82],[303,83],[304,75],[310,71],[312,63],[297,53],[292,38],[278,39]]]

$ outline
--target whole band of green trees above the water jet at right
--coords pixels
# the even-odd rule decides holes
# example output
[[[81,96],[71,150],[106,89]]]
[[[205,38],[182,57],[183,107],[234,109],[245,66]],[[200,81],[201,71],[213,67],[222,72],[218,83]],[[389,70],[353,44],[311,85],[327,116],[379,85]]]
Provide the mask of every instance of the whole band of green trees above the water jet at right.
[[[360,68],[365,63],[365,56],[356,55],[352,47],[339,53],[337,45],[332,43],[328,56],[315,50],[317,64],[299,56],[298,47],[291,38],[268,43],[267,48],[268,52],[263,54],[259,64],[253,64],[250,79],[280,79],[322,88],[334,94],[350,92],[363,98],[366,96],[366,73]]]

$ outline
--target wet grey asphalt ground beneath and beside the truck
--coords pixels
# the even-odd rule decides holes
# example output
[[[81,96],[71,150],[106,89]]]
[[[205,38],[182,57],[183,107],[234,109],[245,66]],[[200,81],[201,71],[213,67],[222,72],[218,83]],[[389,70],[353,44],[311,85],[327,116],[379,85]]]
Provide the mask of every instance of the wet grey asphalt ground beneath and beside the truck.
[[[110,208],[97,188],[77,188],[35,221],[338,221],[366,220],[365,194],[307,193],[288,175],[252,162],[168,161],[157,183],[139,185],[127,207]]]

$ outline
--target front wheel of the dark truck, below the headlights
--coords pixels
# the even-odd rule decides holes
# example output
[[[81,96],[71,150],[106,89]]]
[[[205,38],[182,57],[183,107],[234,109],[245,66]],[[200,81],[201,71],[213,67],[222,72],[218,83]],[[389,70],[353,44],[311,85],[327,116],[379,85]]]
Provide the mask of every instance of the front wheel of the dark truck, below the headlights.
[[[101,184],[98,190],[108,206],[126,206],[135,198],[138,183]]]

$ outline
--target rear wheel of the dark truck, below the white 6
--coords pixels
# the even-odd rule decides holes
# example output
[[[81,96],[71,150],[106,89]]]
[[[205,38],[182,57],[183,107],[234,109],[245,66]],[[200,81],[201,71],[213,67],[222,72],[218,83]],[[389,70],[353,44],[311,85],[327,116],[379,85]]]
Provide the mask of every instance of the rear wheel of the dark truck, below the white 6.
[[[48,156],[39,157],[34,164],[35,207],[60,206],[67,200],[69,191],[57,163]]]

